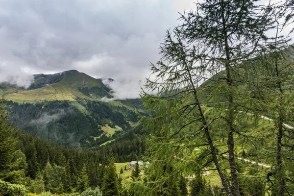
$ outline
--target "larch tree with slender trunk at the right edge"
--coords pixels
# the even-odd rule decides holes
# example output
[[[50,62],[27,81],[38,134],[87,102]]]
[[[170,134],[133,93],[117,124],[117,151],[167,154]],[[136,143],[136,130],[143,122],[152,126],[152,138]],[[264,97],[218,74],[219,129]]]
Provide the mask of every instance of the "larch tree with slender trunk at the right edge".
[[[256,98],[262,101],[263,107],[260,114],[269,116],[274,122],[273,133],[275,142],[271,145],[271,153],[274,170],[268,173],[273,195],[291,195],[294,191],[293,149],[294,128],[288,123],[293,122],[294,114],[294,60],[293,46],[289,46],[291,39],[281,34],[284,24],[276,25],[276,36],[273,42],[268,43],[270,50],[265,50],[263,55],[255,59],[254,74],[252,79],[260,81]],[[275,154],[275,157],[270,155]]]

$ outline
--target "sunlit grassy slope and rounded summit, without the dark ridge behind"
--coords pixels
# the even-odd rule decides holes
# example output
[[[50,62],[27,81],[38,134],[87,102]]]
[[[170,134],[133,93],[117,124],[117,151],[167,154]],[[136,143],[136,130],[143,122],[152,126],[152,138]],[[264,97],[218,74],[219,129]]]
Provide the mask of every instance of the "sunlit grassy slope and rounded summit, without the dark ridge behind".
[[[93,91],[92,88],[95,88]],[[6,95],[15,102],[35,102],[44,100],[97,99],[109,96],[107,87],[99,80],[76,70],[65,72],[63,79],[42,88]],[[10,92],[16,90],[10,89]],[[93,92],[93,93],[92,93]],[[96,95],[95,95],[96,93]],[[93,95],[94,94],[94,95]]]

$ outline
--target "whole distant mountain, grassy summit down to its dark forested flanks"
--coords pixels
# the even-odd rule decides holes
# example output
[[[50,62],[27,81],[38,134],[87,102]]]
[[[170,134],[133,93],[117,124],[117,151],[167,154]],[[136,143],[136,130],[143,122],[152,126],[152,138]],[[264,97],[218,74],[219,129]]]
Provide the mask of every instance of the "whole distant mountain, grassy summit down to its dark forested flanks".
[[[107,78],[108,81],[113,81]],[[29,88],[1,83],[10,120],[26,132],[70,147],[96,147],[114,140],[138,122],[139,99],[113,98],[102,79],[70,70],[35,74]]]

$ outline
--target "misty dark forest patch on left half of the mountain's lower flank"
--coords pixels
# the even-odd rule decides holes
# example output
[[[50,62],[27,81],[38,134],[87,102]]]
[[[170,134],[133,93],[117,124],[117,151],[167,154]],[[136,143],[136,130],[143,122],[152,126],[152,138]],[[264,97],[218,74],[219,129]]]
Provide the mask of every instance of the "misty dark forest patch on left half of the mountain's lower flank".
[[[103,133],[98,123],[81,113],[68,101],[31,103],[7,102],[11,106],[13,125],[49,141],[76,147],[90,136]]]

